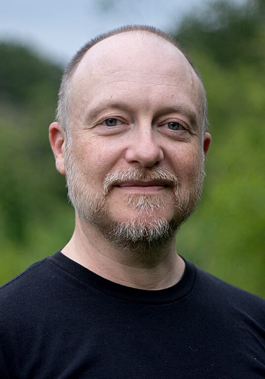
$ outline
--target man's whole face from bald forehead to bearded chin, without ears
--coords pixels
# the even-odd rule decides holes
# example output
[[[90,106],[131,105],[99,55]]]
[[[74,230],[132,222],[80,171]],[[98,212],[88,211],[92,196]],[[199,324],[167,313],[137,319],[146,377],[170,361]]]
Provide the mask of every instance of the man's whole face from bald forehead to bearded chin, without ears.
[[[203,181],[202,89],[186,58],[127,32],[93,46],[72,84],[65,166],[77,214],[135,241],[176,229]]]

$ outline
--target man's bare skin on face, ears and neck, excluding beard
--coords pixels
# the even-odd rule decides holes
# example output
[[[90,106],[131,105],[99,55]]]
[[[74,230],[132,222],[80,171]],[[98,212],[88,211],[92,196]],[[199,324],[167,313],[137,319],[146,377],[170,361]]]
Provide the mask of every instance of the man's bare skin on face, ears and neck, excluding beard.
[[[78,64],[72,88],[71,153],[92,193],[103,193],[106,174],[131,167],[167,168],[177,174],[183,194],[195,185],[210,144],[205,133],[202,145],[202,88],[187,59],[170,42],[140,32],[98,42]],[[117,125],[107,126],[110,118]],[[170,123],[177,123],[178,129]],[[52,124],[50,135],[57,169],[64,174],[60,126]],[[165,206],[141,217],[170,221],[175,212],[173,192],[158,191]],[[115,221],[140,217],[126,205],[127,192],[115,187],[108,195],[108,213]],[[63,253],[117,283],[157,289],[175,284],[184,270],[175,241],[167,249],[156,267],[143,267],[124,257],[76,214],[75,232]]]

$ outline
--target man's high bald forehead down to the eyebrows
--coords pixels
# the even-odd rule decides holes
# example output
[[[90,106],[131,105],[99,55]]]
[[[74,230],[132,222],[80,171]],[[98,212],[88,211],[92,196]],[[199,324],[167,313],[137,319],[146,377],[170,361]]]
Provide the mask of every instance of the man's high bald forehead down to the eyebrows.
[[[171,42],[150,32],[124,32],[96,43],[72,78],[73,109],[104,96],[134,101],[136,92],[143,104],[145,99],[150,102],[172,94],[186,96],[201,108],[202,87],[186,57]]]

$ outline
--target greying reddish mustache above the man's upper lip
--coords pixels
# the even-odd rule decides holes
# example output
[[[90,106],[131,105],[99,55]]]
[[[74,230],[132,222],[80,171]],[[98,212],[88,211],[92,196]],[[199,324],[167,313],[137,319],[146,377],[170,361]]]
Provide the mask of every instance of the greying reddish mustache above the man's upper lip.
[[[166,167],[152,168],[122,168],[108,173],[103,180],[103,191],[107,195],[112,187],[125,181],[152,181],[158,180],[161,183],[173,188],[174,192],[179,190],[180,180],[178,176]]]

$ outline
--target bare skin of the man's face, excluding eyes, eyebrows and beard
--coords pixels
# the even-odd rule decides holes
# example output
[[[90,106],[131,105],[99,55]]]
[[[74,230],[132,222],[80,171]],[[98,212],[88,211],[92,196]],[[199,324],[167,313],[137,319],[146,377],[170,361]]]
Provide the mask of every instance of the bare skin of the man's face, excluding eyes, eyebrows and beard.
[[[178,174],[182,185],[189,185],[197,161],[200,159],[200,133],[186,133],[184,138],[160,132],[154,119],[161,112],[162,119],[174,117],[188,122],[178,114],[163,114],[169,104],[185,105],[201,124],[201,86],[184,55],[169,42],[147,36],[132,43],[128,33],[114,36],[92,47],[80,62],[73,77],[73,139],[75,155],[83,167],[87,180],[93,177],[95,190],[100,191],[107,172],[131,165],[151,167],[158,162]],[[134,44],[134,45],[133,45]],[[124,109],[106,107],[99,117],[91,117],[99,103],[112,100],[125,103]],[[127,110],[128,109],[128,110]],[[102,135],[97,123],[102,118],[120,117],[128,126],[120,132]],[[90,185],[91,180],[89,180]],[[118,192],[118,191],[116,191]],[[124,214],[120,194],[113,193],[110,207],[120,220],[132,217]],[[166,194],[172,203],[170,194]],[[170,201],[171,200],[171,201]],[[167,210],[172,216],[172,207]]]

